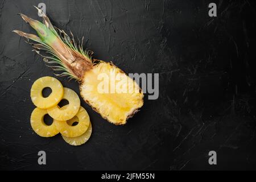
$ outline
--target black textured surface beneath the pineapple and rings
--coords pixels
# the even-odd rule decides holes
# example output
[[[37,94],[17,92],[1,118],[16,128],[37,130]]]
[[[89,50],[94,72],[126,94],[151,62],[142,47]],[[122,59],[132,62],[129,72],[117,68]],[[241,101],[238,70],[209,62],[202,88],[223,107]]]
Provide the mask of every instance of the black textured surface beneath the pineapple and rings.
[[[40,19],[32,7],[39,2],[57,27],[85,36],[95,58],[126,73],[159,73],[158,100],[146,96],[125,126],[82,102],[93,134],[79,147],[36,135],[30,88],[54,75],[11,30],[34,33],[16,14]],[[0,0],[0,169],[256,169],[255,8],[228,0]],[[79,93],[77,82],[59,80]],[[211,150],[216,166],[208,164]]]

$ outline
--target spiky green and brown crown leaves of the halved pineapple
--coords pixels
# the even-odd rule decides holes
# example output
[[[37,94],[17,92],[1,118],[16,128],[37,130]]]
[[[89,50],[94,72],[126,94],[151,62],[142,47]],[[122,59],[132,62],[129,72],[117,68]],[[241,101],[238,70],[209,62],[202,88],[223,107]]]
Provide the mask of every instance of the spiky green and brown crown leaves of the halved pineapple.
[[[57,47],[59,46],[63,48],[64,51],[68,52],[67,55],[69,57],[72,57],[72,55],[78,55],[79,57],[82,57],[85,61],[88,61],[89,64],[94,65],[94,61],[92,61],[93,52],[82,48],[84,37],[82,37],[81,44],[80,41],[79,44],[77,44],[72,32],[70,38],[68,34],[65,33],[65,31],[53,27],[51,21],[42,10],[38,9],[38,7],[36,7],[36,9],[42,15],[43,23],[39,22],[38,20],[29,18],[26,15],[19,15],[26,23],[29,23],[30,26],[35,29],[38,36],[34,34],[28,34],[19,30],[14,30],[13,32],[24,38],[27,38],[26,42],[28,44],[31,44],[31,46],[34,48],[33,51],[43,57],[43,60],[48,64],[48,67],[51,67],[54,71],[62,71],[61,74],[55,74],[56,76],[68,76],[71,79],[75,78],[76,80],[79,80],[79,77],[77,77],[72,69],[68,67],[68,64],[65,64],[65,61],[67,61],[68,59],[64,59],[65,57],[63,57],[61,53],[59,53],[60,50],[56,49],[58,49]],[[32,40],[36,43],[31,43],[29,42],[29,40]],[[51,56],[42,55],[40,53],[40,50],[46,51],[46,53],[49,53]],[[56,66],[54,64],[58,65]]]

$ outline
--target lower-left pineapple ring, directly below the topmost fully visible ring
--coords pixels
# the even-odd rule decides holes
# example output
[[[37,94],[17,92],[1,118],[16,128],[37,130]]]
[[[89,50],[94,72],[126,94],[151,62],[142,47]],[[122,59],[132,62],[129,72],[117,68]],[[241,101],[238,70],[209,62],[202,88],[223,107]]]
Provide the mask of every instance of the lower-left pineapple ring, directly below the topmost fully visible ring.
[[[32,111],[30,124],[32,126],[32,129],[39,136],[53,137],[54,135],[59,133],[59,130],[57,130],[57,127],[56,127],[56,120],[53,119],[53,122],[51,125],[46,125],[46,123],[44,123],[44,115],[46,114],[47,114],[46,109],[40,109],[39,107],[36,107],[36,109]]]

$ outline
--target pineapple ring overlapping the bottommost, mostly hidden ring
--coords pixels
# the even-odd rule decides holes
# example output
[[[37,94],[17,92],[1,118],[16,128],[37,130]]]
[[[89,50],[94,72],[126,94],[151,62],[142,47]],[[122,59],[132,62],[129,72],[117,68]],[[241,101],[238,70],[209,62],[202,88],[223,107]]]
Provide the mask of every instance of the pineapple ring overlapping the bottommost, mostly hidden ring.
[[[64,108],[68,105],[63,106]],[[61,107],[62,108],[62,107]],[[90,125],[90,118],[87,111],[84,107],[80,106],[76,117],[79,119],[78,124],[76,126],[70,125],[71,121],[57,121],[56,126],[57,130],[60,131],[61,135],[65,137],[78,137],[85,133]]]

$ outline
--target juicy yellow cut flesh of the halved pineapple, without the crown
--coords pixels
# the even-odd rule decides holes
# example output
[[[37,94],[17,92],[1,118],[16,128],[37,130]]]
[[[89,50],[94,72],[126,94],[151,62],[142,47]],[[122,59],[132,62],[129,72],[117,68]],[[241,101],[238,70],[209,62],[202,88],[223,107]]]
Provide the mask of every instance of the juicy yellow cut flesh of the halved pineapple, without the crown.
[[[123,81],[121,88],[127,88],[128,90],[129,85],[131,85],[134,92],[99,93],[97,86],[102,80],[98,80],[98,75],[105,73],[109,76],[110,82],[111,72],[114,72],[115,75],[121,75],[118,81],[114,81],[115,85],[117,85],[119,81]],[[109,86],[109,89],[110,87],[111,86]],[[135,92],[135,90],[137,92]],[[115,67],[114,64],[104,61],[94,65],[90,71],[84,73],[84,77],[82,77],[80,83],[80,95],[93,110],[101,114],[102,118],[114,125],[124,125],[127,119],[133,117],[133,115],[139,111],[139,108],[143,106],[143,92],[141,88],[139,88],[139,85],[121,69]]]

